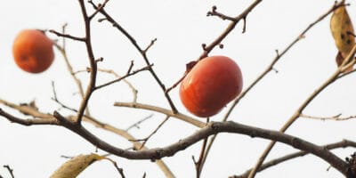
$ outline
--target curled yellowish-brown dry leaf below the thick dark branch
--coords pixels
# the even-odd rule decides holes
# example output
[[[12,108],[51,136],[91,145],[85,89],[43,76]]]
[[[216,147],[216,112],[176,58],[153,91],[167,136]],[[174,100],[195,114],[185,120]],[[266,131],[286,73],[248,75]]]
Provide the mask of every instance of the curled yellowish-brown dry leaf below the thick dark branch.
[[[69,161],[61,165],[61,167],[51,175],[51,178],[75,178],[78,174],[84,171],[86,167],[103,158],[105,157],[93,153],[71,158]]]

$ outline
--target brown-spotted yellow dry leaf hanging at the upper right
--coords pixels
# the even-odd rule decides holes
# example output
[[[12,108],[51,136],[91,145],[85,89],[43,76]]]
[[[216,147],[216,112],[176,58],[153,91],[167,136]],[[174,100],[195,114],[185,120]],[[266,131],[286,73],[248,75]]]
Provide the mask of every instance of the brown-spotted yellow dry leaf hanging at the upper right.
[[[346,7],[343,5],[337,8],[330,20],[331,34],[335,39],[335,44],[339,52],[336,55],[337,66],[340,66],[347,54],[352,50],[355,44],[354,30],[352,26],[352,20],[347,13]],[[353,67],[346,69],[345,71],[351,71]]]

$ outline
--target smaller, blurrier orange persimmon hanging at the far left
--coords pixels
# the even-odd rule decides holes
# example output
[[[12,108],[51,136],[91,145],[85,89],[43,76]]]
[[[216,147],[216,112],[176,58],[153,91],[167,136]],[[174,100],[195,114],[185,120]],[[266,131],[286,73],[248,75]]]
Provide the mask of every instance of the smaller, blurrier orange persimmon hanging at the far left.
[[[40,73],[53,63],[53,42],[40,30],[24,29],[15,37],[12,55],[20,69]]]

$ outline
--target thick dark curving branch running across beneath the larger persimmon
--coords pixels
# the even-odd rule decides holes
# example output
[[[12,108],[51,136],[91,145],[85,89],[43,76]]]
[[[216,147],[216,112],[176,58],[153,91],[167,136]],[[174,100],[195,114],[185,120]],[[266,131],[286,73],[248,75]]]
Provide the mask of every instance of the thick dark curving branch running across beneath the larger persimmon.
[[[0,112],[0,116],[6,117],[12,122],[18,123],[20,125],[36,125],[35,122],[24,122],[23,119],[13,117],[12,115],[5,113],[3,110]],[[68,119],[62,117],[58,112],[54,112],[53,116],[57,118],[55,125],[62,125],[72,132],[79,134],[86,141],[91,142],[93,145],[97,146],[101,150],[108,151],[111,154],[117,155],[118,157],[130,158],[130,159],[151,159],[157,160],[163,157],[173,156],[176,152],[185,150],[190,145],[205,139],[206,137],[217,134],[217,133],[234,133],[234,134],[245,134],[251,137],[258,137],[273,140],[276,142],[283,142],[290,145],[296,149],[304,150],[310,152],[313,155],[320,157],[327,161],[331,166],[334,166],[340,173],[347,177],[352,177],[355,175],[350,175],[348,172],[348,164],[344,160],[337,158],[336,155],[325,149],[324,147],[317,146],[311,142],[306,142],[303,139],[291,136],[288,134],[283,134],[277,131],[271,131],[267,129],[257,128],[254,126],[240,125],[235,122],[211,122],[205,127],[201,128],[198,132],[191,134],[189,137],[175,142],[169,146],[150,149],[150,150],[122,150],[110,145],[107,142],[103,142],[101,139],[96,137],[94,134],[90,133],[82,125],[77,125],[76,121],[73,119]],[[47,120],[47,125],[53,125],[51,120]],[[41,123],[44,124],[44,123]]]

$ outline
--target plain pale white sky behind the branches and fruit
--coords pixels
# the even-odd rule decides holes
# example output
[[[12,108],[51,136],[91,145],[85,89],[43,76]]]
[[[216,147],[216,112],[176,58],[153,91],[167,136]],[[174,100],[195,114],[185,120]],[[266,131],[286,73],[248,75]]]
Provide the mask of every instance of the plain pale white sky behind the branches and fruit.
[[[172,85],[182,76],[185,63],[195,60],[202,53],[201,44],[211,43],[220,35],[229,21],[216,17],[206,17],[213,5],[219,12],[235,16],[253,1],[246,0],[181,0],[181,1],[118,1],[111,0],[107,11],[135,37],[138,44],[146,46],[150,40],[158,41],[150,49],[148,56],[154,63],[154,69],[166,85]],[[356,1],[348,1],[348,11],[355,21]],[[249,85],[275,57],[275,50],[282,51],[292,42],[303,28],[327,12],[334,0],[299,1],[263,1],[247,17],[247,32],[241,34],[242,23],[223,41],[224,48],[216,48],[211,55],[226,55],[234,59],[242,69],[244,85]],[[60,100],[77,108],[79,97],[77,86],[65,67],[61,54],[56,57],[50,69],[42,74],[32,75],[17,68],[12,59],[12,41],[23,28],[42,28],[61,30],[68,23],[68,32],[75,36],[84,35],[84,23],[77,1],[69,0],[12,0],[2,2],[2,25],[0,27],[0,98],[15,103],[36,100],[41,111],[52,113],[60,107],[51,100],[53,96],[51,82],[55,82]],[[90,5],[89,12],[93,12]],[[101,18],[100,15],[96,18]],[[276,65],[279,73],[271,72],[263,81],[247,94],[233,111],[230,119],[236,122],[268,129],[279,129],[295,109],[336,70],[336,46],[329,30],[329,19],[321,21],[312,28],[306,38],[300,41]],[[58,38],[50,35],[51,38]],[[67,40],[69,60],[75,70],[88,66],[84,44]],[[93,50],[95,57],[103,57],[101,69],[113,69],[125,74],[129,63],[134,60],[134,69],[144,66],[142,57],[134,46],[107,22],[93,22]],[[88,75],[79,74],[86,87]],[[113,77],[99,74],[98,84]],[[138,101],[169,108],[163,93],[150,76],[142,72],[128,79],[138,90]],[[344,77],[330,85],[307,109],[312,116],[356,115],[354,103],[356,95],[356,75]],[[178,90],[171,92],[177,108],[189,114],[182,107]],[[113,107],[114,101],[132,101],[130,89],[124,83],[111,85],[93,93],[90,110],[93,117],[103,122],[126,128],[134,122],[154,116],[141,125],[141,129],[132,129],[130,133],[137,138],[145,137],[164,119],[165,116],[150,111]],[[16,111],[0,106],[17,115]],[[64,109],[62,114],[70,114]],[[212,117],[219,121],[226,113]],[[17,115],[21,116],[21,115]],[[204,121],[204,119],[203,119]],[[288,130],[307,141],[316,144],[339,142],[342,139],[356,141],[356,121],[343,122],[320,121],[300,118]],[[131,144],[117,135],[109,134],[92,125],[85,125],[119,148],[129,148]],[[174,118],[155,134],[147,146],[163,147],[193,134],[196,127]],[[210,157],[206,161],[202,177],[227,177],[242,174],[254,166],[269,141],[252,139],[239,134],[221,134],[214,143]],[[2,167],[10,165],[16,178],[49,177],[50,174],[67,159],[61,155],[76,156],[94,151],[91,143],[59,126],[30,126],[11,124],[0,118],[0,174],[10,177]],[[191,156],[198,157],[201,143],[178,152],[174,157],[164,158],[166,164],[177,177],[194,177],[195,169]],[[295,150],[283,144],[277,144],[267,159],[277,158]],[[338,156],[345,158],[354,149],[335,150]],[[100,151],[99,153],[104,153]],[[126,177],[164,177],[158,166],[150,160],[127,160],[111,157],[125,171]],[[329,171],[328,163],[314,156],[296,158],[274,166],[257,177],[341,177],[335,169]],[[108,161],[90,166],[79,177],[119,177]]]

